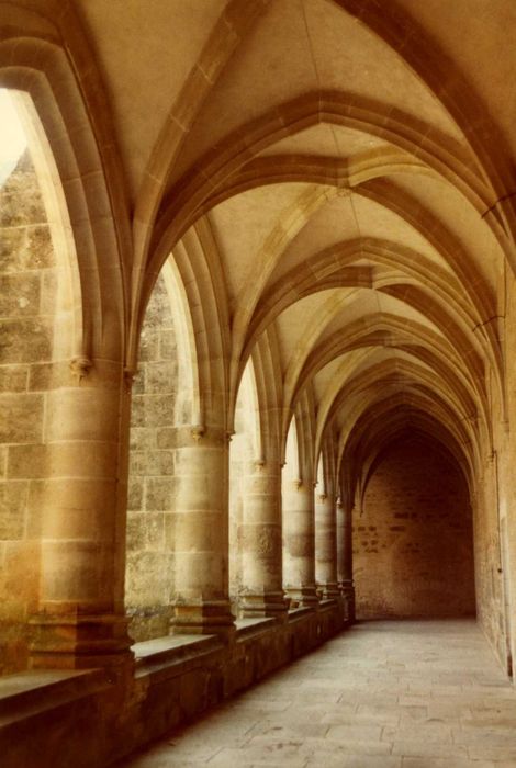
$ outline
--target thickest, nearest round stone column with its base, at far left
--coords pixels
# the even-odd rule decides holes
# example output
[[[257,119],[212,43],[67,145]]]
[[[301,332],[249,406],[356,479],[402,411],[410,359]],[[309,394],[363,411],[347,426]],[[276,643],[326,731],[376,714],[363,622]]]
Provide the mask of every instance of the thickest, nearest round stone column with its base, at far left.
[[[123,608],[130,394],[116,363],[80,359],[46,371],[45,441],[30,445],[41,524],[32,667],[132,663]],[[42,374],[44,372],[42,371]],[[52,388],[53,381],[67,386]],[[25,464],[27,456],[23,456]]]

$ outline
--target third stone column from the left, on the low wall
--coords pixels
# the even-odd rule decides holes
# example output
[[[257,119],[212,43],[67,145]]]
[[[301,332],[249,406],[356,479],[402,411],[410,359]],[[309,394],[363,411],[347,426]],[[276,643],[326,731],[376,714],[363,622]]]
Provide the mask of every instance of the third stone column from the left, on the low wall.
[[[240,545],[242,614],[284,615],[279,462],[255,463],[244,479]]]

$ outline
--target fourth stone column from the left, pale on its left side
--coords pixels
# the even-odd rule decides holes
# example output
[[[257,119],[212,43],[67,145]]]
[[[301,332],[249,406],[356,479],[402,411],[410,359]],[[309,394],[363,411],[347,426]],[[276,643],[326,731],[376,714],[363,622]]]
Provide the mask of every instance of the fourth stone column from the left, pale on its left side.
[[[314,488],[283,479],[283,586],[293,606],[315,606]]]

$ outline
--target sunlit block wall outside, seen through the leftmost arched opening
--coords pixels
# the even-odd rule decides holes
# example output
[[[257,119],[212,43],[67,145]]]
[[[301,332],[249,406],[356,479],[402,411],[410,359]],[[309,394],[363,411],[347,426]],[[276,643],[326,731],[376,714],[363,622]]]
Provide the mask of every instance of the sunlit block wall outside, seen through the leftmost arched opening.
[[[38,598],[40,498],[47,467],[33,461],[49,418],[57,270],[30,156],[0,189],[0,674],[27,656]]]

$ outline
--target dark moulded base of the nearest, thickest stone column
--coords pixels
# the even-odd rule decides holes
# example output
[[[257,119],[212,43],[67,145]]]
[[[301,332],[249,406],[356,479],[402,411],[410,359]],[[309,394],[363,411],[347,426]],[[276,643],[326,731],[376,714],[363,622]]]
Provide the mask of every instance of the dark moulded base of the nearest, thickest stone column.
[[[128,619],[117,614],[37,613],[30,619],[32,669],[133,666]]]

